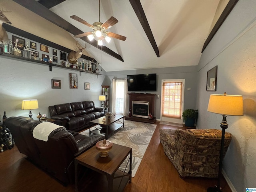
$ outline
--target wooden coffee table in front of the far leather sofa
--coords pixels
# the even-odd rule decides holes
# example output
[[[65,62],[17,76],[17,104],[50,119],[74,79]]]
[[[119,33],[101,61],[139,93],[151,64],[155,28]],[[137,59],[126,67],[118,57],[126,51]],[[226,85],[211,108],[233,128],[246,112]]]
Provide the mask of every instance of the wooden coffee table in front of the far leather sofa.
[[[106,118],[106,122],[103,122],[103,118]],[[123,120],[121,121],[121,119],[123,119]],[[116,122],[120,122],[122,124],[118,124]],[[96,128],[93,125],[100,125],[101,127]],[[93,126],[96,129],[91,130],[91,128],[92,128],[91,126]],[[115,116],[112,116],[111,119],[108,119],[108,116],[103,116],[103,117],[100,117],[93,121],[90,121],[89,127],[90,127],[89,128],[90,135],[91,135],[91,133],[104,134],[105,138],[108,139],[112,134],[117,132],[117,130],[119,128],[124,127],[124,116],[123,115],[115,115]]]

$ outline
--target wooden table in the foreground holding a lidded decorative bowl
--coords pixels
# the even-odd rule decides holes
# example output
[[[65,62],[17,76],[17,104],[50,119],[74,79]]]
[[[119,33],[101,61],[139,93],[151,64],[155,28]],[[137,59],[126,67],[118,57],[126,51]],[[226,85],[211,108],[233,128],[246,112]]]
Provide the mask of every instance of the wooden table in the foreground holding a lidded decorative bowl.
[[[118,170],[126,157],[130,155],[129,171]],[[78,165],[90,169],[84,178],[78,181]],[[128,169],[128,168],[127,168]],[[132,182],[132,148],[114,144],[107,157],[100,157],[93,146],[75,158],[75,191],[123,191],[126,184]]]

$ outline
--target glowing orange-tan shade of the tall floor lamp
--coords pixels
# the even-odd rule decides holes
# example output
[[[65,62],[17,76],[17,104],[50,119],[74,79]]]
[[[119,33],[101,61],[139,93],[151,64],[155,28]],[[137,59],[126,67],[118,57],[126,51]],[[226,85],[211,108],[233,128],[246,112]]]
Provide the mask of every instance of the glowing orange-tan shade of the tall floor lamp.
[[[232,116],[244,115],[242,95],[211,94],[207,111]]]

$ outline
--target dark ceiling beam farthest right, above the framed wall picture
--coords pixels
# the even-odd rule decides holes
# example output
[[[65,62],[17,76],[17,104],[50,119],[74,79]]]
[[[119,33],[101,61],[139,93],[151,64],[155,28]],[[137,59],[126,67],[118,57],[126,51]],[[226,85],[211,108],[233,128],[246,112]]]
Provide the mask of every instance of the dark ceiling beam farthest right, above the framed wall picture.
[[[214,35],[218,31],[218,29],[220,28],[222,23],[226,20],[226,18],[228,17],[228,15],[230,14],[230,12],[232,11],[232,9],[234,8],[234,6],[236,5],[236,3],[238,1],[239,0],[229,0],[228,4],[226,5],[225,9],[223,10],[222,14],[220,15],[220,18],[217,20],[216,24],[212,28],[212,31],[210,32],[206,41],[204,42],[202,52],[207,47],[207,45],[210,43],[210,41],[212,40],[212,38],[214,37]]]

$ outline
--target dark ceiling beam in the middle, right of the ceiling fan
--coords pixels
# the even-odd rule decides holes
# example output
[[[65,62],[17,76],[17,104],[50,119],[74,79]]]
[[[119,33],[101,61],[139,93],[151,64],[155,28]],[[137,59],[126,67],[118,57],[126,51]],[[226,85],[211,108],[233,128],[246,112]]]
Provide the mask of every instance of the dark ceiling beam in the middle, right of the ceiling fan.
[[[148,24],[148,20],[146,18],[146,15],[144,13],[144,10],[142,8],[140,0],[129,0],[129,1],[130,1],[130,4],[132,5],[134,12],[136,13],[136,15],[140,21],[140,24],[142,25],[142,28],[144,29],[144,31],[148,37],[148,40],[150,41],[150,44],[152,45],[154,51],[156,52],[156,56],[160,57],[156,41],[154,39],[154,36],[153,36],[150,26]]]

